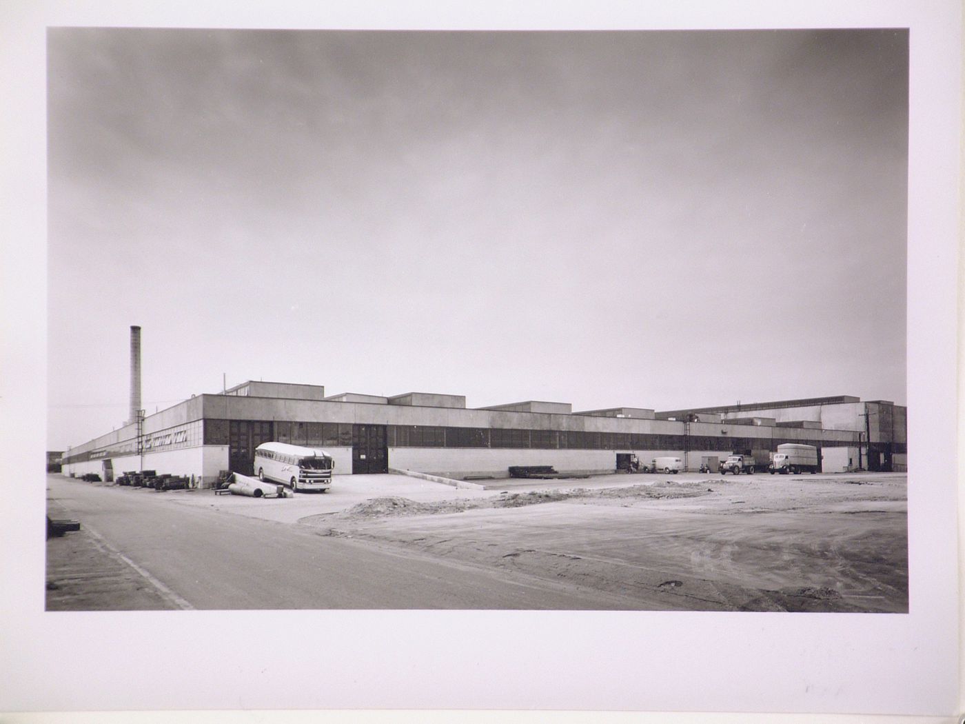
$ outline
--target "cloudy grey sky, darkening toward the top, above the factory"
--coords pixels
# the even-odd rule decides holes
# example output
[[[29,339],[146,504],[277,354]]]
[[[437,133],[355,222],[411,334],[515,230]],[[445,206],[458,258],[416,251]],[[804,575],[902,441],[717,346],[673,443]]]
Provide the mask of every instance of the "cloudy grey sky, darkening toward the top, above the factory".
[[[263,378],[905,401],[904,31],[53,29],[50,449]]]

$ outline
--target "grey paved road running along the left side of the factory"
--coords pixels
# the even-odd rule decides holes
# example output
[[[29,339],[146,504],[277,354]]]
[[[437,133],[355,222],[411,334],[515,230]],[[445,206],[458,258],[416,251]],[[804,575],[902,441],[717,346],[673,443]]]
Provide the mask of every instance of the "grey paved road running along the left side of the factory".
[[[51,507],[81,522],[81,533],[68,536],[94,543],[102,558],[138,579],[152,600],[165,601],[158,607],[623,607],[618,597],[605,592],[326,537],[306,526],[228,514],[213,506],[178,505],[168,494],[145,489],[96,486],[60,476],[48,477],[47,485]],[[96,601],[83,600],[74,610],[119,607],[103,596]]]

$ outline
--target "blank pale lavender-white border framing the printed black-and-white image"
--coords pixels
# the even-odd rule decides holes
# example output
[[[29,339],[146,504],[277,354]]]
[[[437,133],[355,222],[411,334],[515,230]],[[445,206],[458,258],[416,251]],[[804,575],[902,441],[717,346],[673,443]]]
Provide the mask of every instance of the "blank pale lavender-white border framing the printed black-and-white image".
[[[15,550],[17,556],[16,565],[5,567],[11,585],[5,586],[4,609],[12,615],[0,626],[5,647],[14,655],[4,657],[4,679],[11,686],[0,709],[492,707],[949,713],[957,679],[957,586],[951,555],[956,472],[953,181],[958,160],[957,102],[951,97],[958,89],[957,10],[951,4],[936,4],[918,13],[908,7],[874,13],[864,5],[845,6],[834,16],[763,7],[757,12],[754,27],[912,29],[907,364],[908,404],[916,412],[911,416],[909,447],[928,447],[935,454],[913,458],[909,474],[907,616],[280,611],[270,612],[271,626],[262,627],[261,613],[44,614],[43,550],[33,525],[43,510],[38,472],[36,486],[17,507],[20,514],[34,515],[11,515],[10,508],[4,513],[5,554]],[[426,8],[421,13],[420,17],[415,9],[397,25],[432,27],[439,22]],[[636,14],[626,16],[625,9],[607,17],[571,14],[569,24],[575,27],[648,27]],[[15,228],[30,243],[17,248],[15,255],[5,255],[12,260],[6,274],[13,269],[19,280],[4,285],[8,301],[14,302],[5,305],[5,328],[22,344],[7,350],[7,379],[16,379],[17,386],[9,381],[5,385],[3,424],[5,439],[28,458],[41,459],[43,453],[44,421],[36,414],[36,401],[45,397],[50,365],[44,360],[42,333],[44,199],[37,192],[45,176],[39,163],[44,148],[43,27],[140,24],[135,17],[90,11],[77,16],[57,6],[42,6],[20,20],[20,37],[6,43],[4,82],[34,124],[25,124],[27,119],[14,124],[7,117],[7,125],[21,141],[17,148],[23,149],[23,157],[16,157],[22,176],[15,191],[23,203],[13,209]],[[297,13],[294,17],[305,19]],[[373,23],[372,15],[352,15],[345,9],[337,19],[313,18],[309,24],[370,28]],[[194,27],[238,22],[204,13],[173,20],[151,14],[149,20]],[[674,20],[689,27],[708,24],[699,14],[681,14]],[[517,23],[542,27],[547,22],[540,22],[531,10],[521,17],[495,14],[484,25],[512,29]],[[714,22],[748,27],[748,18],[739,14]],[[444,23],[463,24],[468,20]],[[292,22],[274,14],[258,17],[254,25],[290,27]],[[19,64],[15,81],[9,70],[12,59]],[[11,198],[14,185],[7,181]],[[947,310],[947,316],[936,316],[935,310]],[[7,412],[13,413],[17,425],[10,423],[12,415]],[[29,451],[33,455],[28,456]],[[930,485],[916,486],[915,481]],[[565,639],[561,630],[566,631]],[[454,641],[460,644],[453,647]],[[519,641],[529,642],[527,650],[519,649]],[[65,646],[70,656],[62,654]],[[193,661],[190,668],[183,665],[185,659]],[[325,694],[278,685],[287,680],[292,665],[312,669],[319,664],[331,672],[332,685]],[[148,665],[170,673],[164,686],[116,685],[125,672]],[[212,691],[204,673],[226,667],[237,682],[253,679],[262,685]],[[499,672],[499,686],[493,685],[491,671]],[[366,676],[360,677],[361,672]],[[51,681],[57,685],[51,686]],[[379,682],[377,688],[372,681]],[[641,681],[650,682],[647,690],[641,689]],[[695,699],[694,681],[702,682],[701,701]],[[178,692],[176,703],[173,690]]]

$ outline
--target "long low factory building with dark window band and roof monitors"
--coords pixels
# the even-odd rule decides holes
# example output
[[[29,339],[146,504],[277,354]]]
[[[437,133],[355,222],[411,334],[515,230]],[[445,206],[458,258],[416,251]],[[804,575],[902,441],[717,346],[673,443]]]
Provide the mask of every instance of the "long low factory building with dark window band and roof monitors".
[[[645,463],[675,456],[697,470],[707,459],[750,451],[766,456],[786,442],[819,448],[825,472],[907,465],[906,408],[854,397],[574,412],[566,403],[467,408],[458,395],[326,396],[320,385],[248,381],[150,416],[134,404],[132,396],[124,427],[66,451],[64,474],[94,472],[108,480],[156,470],[207,486],[223,470],[256,472],[255,448],[272,440],[324,449],[336,474],[397,469],[460,479],[506,477],[511,465],[613,472],[630,455]]]

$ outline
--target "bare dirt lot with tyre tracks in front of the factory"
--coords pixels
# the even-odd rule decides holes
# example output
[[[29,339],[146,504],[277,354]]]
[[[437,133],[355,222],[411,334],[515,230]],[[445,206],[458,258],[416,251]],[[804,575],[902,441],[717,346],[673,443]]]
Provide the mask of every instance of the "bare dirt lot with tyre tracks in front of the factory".
[[[382,496],[299,522],[608,591],[633,609],[908,610],[905,476],[640,480]]]

